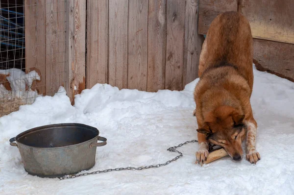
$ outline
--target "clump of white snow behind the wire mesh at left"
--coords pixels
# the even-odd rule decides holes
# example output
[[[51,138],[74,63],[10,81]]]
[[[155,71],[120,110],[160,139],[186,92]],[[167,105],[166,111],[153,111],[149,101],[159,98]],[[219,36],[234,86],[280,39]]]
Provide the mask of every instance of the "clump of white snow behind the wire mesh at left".
[[[26,99],[26,103],[33,103],[34,97],[38,96],[38,92],[32,91],[30,87],[34,80],[41,79],[36,71],[31,71],[26,74],[20,69],[13,68],[0,70],[0,74],[9,75],[6,78],[11,87],[11,91],[8,91],[2,84],[0,84],[0,97],[7,99],[18,97],[20,99]],[[26,86],[28,87],[27,90]]]

